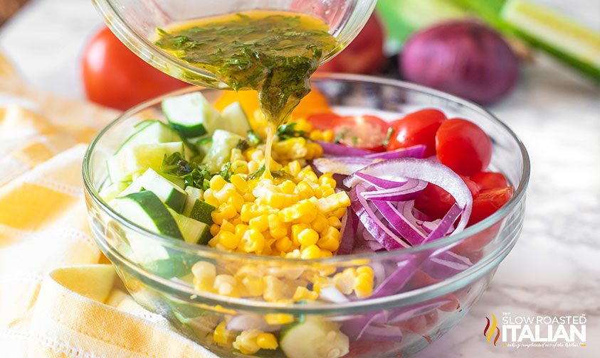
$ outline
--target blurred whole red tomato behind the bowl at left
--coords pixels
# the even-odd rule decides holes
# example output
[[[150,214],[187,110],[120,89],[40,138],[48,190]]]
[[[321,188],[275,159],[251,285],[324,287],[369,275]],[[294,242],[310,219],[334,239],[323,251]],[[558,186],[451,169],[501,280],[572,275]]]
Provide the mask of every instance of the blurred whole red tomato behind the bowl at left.
[[[83,50],[81,67],[88,99],[121,110],[187,86],[137,57],[106,27]]]

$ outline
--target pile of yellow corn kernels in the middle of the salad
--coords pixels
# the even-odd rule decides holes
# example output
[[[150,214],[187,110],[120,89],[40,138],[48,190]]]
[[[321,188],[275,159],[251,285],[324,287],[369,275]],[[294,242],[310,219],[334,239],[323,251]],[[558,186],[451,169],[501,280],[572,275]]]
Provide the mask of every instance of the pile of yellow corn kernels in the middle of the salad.
[[[298,121],[295,129],[306,131],[310,140],[276,138],[273,144],[270,168],[285,172],[283,176],[248,180],[248,174],[264,165],[263,148],[232,150],[230,182],[215,175],[204,192],[204,200],[216,207],[209,246],[295,259],[326,258],[338,249],[341,219],[350,205],[349,197],[346,192],[335,191],[332,175],[318,177],[306,162],[322,155],[322,148],[314,141],[332,141],[333,133],[312,131],[307,121]],[[293,303],[317,300],[327,287],[335,287],[344,295],[354,293],[358,298],[372,295],[374,274],[370,266],[336,272],[335,267],[310,269],[298,264],[277,270],[256,264],[217,268],[207,261],[199,261],[192,268],[199,291],[230,297]],[[268,314],[264,319],[270,325],[294,321],[288,314]],[[260,330],[231,332],[226,329],[226,321],[216,327],[213,340],[218,345],[233,345],[243,354],[278,347],[273,334]]]

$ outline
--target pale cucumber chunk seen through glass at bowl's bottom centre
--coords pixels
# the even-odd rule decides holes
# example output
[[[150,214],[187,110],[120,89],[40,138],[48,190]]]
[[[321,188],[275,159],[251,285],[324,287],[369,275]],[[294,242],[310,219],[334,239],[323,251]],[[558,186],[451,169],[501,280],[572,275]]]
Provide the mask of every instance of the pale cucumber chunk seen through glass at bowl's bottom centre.
[[[310,317],[285,327],[279,345],[288,358],[338,358],[348,354],[350,341],[335,323]]]

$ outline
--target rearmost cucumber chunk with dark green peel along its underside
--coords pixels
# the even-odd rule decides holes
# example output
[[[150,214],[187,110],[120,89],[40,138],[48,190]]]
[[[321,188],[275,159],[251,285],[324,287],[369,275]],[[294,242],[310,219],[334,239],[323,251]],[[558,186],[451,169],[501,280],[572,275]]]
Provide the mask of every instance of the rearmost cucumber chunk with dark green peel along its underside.
[[[219,111],[200,92],[165,99],[162,112],[184,138],[211,134],[222,121]]]

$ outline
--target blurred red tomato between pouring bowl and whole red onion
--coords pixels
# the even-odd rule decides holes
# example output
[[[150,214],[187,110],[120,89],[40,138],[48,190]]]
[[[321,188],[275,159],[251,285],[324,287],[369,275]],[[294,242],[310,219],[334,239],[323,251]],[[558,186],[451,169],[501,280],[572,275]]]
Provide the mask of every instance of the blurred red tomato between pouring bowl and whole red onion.
[[[384,28],[373,13],[352,43],[319,71],[372,74],[381,69],[384,60]]]

